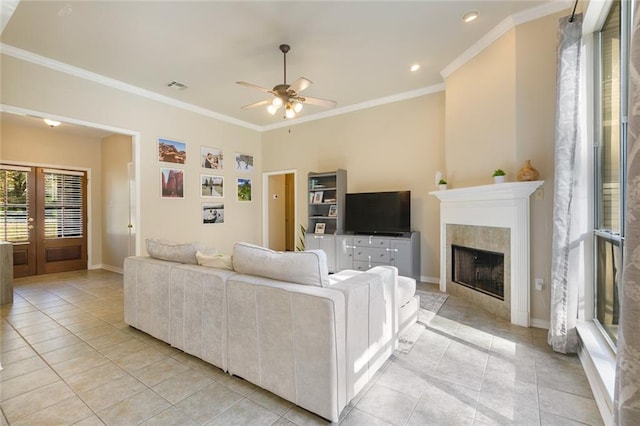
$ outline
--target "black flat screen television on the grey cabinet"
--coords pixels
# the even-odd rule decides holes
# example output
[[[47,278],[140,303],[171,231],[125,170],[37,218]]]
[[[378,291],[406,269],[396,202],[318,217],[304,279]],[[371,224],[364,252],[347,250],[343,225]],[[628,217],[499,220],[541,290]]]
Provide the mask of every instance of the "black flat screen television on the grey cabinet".
[[[411,191],[346,194],[344,229],[365,235],[411,232]]]

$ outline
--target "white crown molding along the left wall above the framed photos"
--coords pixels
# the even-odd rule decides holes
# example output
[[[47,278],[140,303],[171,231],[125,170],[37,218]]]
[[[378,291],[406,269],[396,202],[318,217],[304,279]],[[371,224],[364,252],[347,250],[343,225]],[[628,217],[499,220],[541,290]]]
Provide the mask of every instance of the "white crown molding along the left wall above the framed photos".
[[[56,61],[54,59],[47,58],[46,56],[41,56],[36,53],[19,49],[17,47],[10,46],[5,43],[0,43],[0,52],[4,55],[11,56],[16,59],[21,59],[23,61],[30,62],[32,64],[36,64],[36,65],[40,65],[40,66],[52,69],[54,71],[59,71],[65,74],[73,75],[75,77],[92,81],[94,83],[98,83],[103,86],[111,87],[113,89],[131,93],[137,96],[141,96],[143,98],[147,98],[156,102],[160,102],[176,108],[191,111],[196,114],[204,115],[206,117],[215,118],[217,120],[224,121],[230,124],[235,124],[236,126],[245,127],[251,130],[261,131],[260,126],[247,123],[246,121],[238,120],[236,118],[229,117],[227,115],[220,114],[220,113],[217,113],[217,112],[214,112],[206,108],[202,108],[187,102],[182,102],[182,101],[170,98],[168,96],[161,95],[156,92],[152,92],[151,90],[143,89],[141,87],[134,86],[132,84],[125,83],[120,80],[106,77],[104,75],[87,71],[82,68],[74,67],[72,65],[65,64],[64,62]]]

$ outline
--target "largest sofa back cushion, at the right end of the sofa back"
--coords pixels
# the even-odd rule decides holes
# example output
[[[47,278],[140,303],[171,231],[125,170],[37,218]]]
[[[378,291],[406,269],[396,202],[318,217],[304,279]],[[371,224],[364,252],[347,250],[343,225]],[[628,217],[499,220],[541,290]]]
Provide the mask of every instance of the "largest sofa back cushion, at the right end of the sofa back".
[[[327,255],[322,250],[278,252],[248,243],[233,247],[233,269],[290,283],[326,287],[329,285]]]

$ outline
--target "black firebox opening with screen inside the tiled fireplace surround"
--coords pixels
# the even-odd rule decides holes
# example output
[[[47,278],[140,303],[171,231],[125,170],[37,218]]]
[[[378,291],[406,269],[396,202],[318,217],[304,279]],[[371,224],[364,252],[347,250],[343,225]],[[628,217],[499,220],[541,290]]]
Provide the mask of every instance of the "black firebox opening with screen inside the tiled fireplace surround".
[[[504,300],[504,254],[453,244],[451,264],[452,281]]]

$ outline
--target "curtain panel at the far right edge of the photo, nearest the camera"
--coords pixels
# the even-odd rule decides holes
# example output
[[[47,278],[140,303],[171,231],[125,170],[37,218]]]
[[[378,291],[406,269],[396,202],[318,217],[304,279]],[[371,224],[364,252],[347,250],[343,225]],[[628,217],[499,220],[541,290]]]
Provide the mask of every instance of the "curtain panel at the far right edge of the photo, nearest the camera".
[[[640,2],[634,4],[629,51],[625,249],[620,290],[614,417],[640,425]]]

